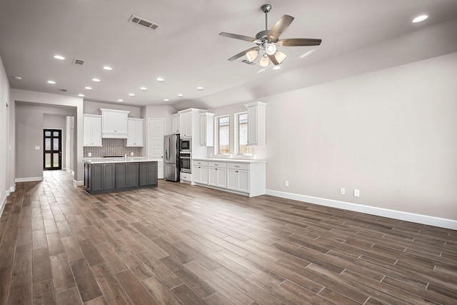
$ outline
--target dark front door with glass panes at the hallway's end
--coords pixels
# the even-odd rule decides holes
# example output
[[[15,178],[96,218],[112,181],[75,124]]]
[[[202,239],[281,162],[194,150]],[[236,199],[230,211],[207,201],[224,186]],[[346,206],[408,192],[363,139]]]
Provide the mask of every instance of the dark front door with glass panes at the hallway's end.
[[[62,131],[44,129],[43,169],[62,169]]]

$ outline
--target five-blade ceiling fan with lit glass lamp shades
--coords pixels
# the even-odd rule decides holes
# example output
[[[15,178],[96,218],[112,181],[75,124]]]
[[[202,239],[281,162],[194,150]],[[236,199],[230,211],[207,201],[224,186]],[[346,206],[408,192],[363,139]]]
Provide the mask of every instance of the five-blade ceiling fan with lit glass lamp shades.
[[[261,10],[265,13],[265,31],[259,31],[256,34],[256,38],[243,36],[238,34],[231,34],[222,32],[220,36],[226,36],[234,39],[241,39],[244,41],[250,41],[256,44],[250,49],[244,50],[241,53],[236,54],[229,58],[229,61],[240,58],[246,55],[248,61],[254,61],[258,54],[263,51],[261,59],[259,61],[260,66],[266,68],[271,61],[273,64],[281,64],[286,59],[286,54],[279,51],[277,46],[318,46],[321,44],[321,39],[308,39],[308,38],[290,38],[290,39],[279,39],[279,36],[285,31],[293,21],[292,16],[283,15],[276,24],[268,30],[268,12],[271,11],[270,4],[263,4]]]

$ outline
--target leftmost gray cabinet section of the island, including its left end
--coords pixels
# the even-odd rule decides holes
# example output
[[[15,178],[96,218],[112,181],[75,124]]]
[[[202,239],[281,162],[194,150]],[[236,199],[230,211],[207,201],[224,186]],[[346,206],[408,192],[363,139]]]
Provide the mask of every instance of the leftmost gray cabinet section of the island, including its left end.
[[[115,164],[84,164],[84,189],[112,191],[116,188]]]

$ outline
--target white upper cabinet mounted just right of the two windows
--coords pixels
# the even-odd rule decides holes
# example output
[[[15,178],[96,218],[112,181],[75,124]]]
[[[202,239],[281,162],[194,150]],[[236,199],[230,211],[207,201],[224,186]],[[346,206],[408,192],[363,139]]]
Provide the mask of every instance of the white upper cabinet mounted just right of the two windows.
[[[266,103],[255,101],[244,106],[248,109],[248,145],[265,145]]]

